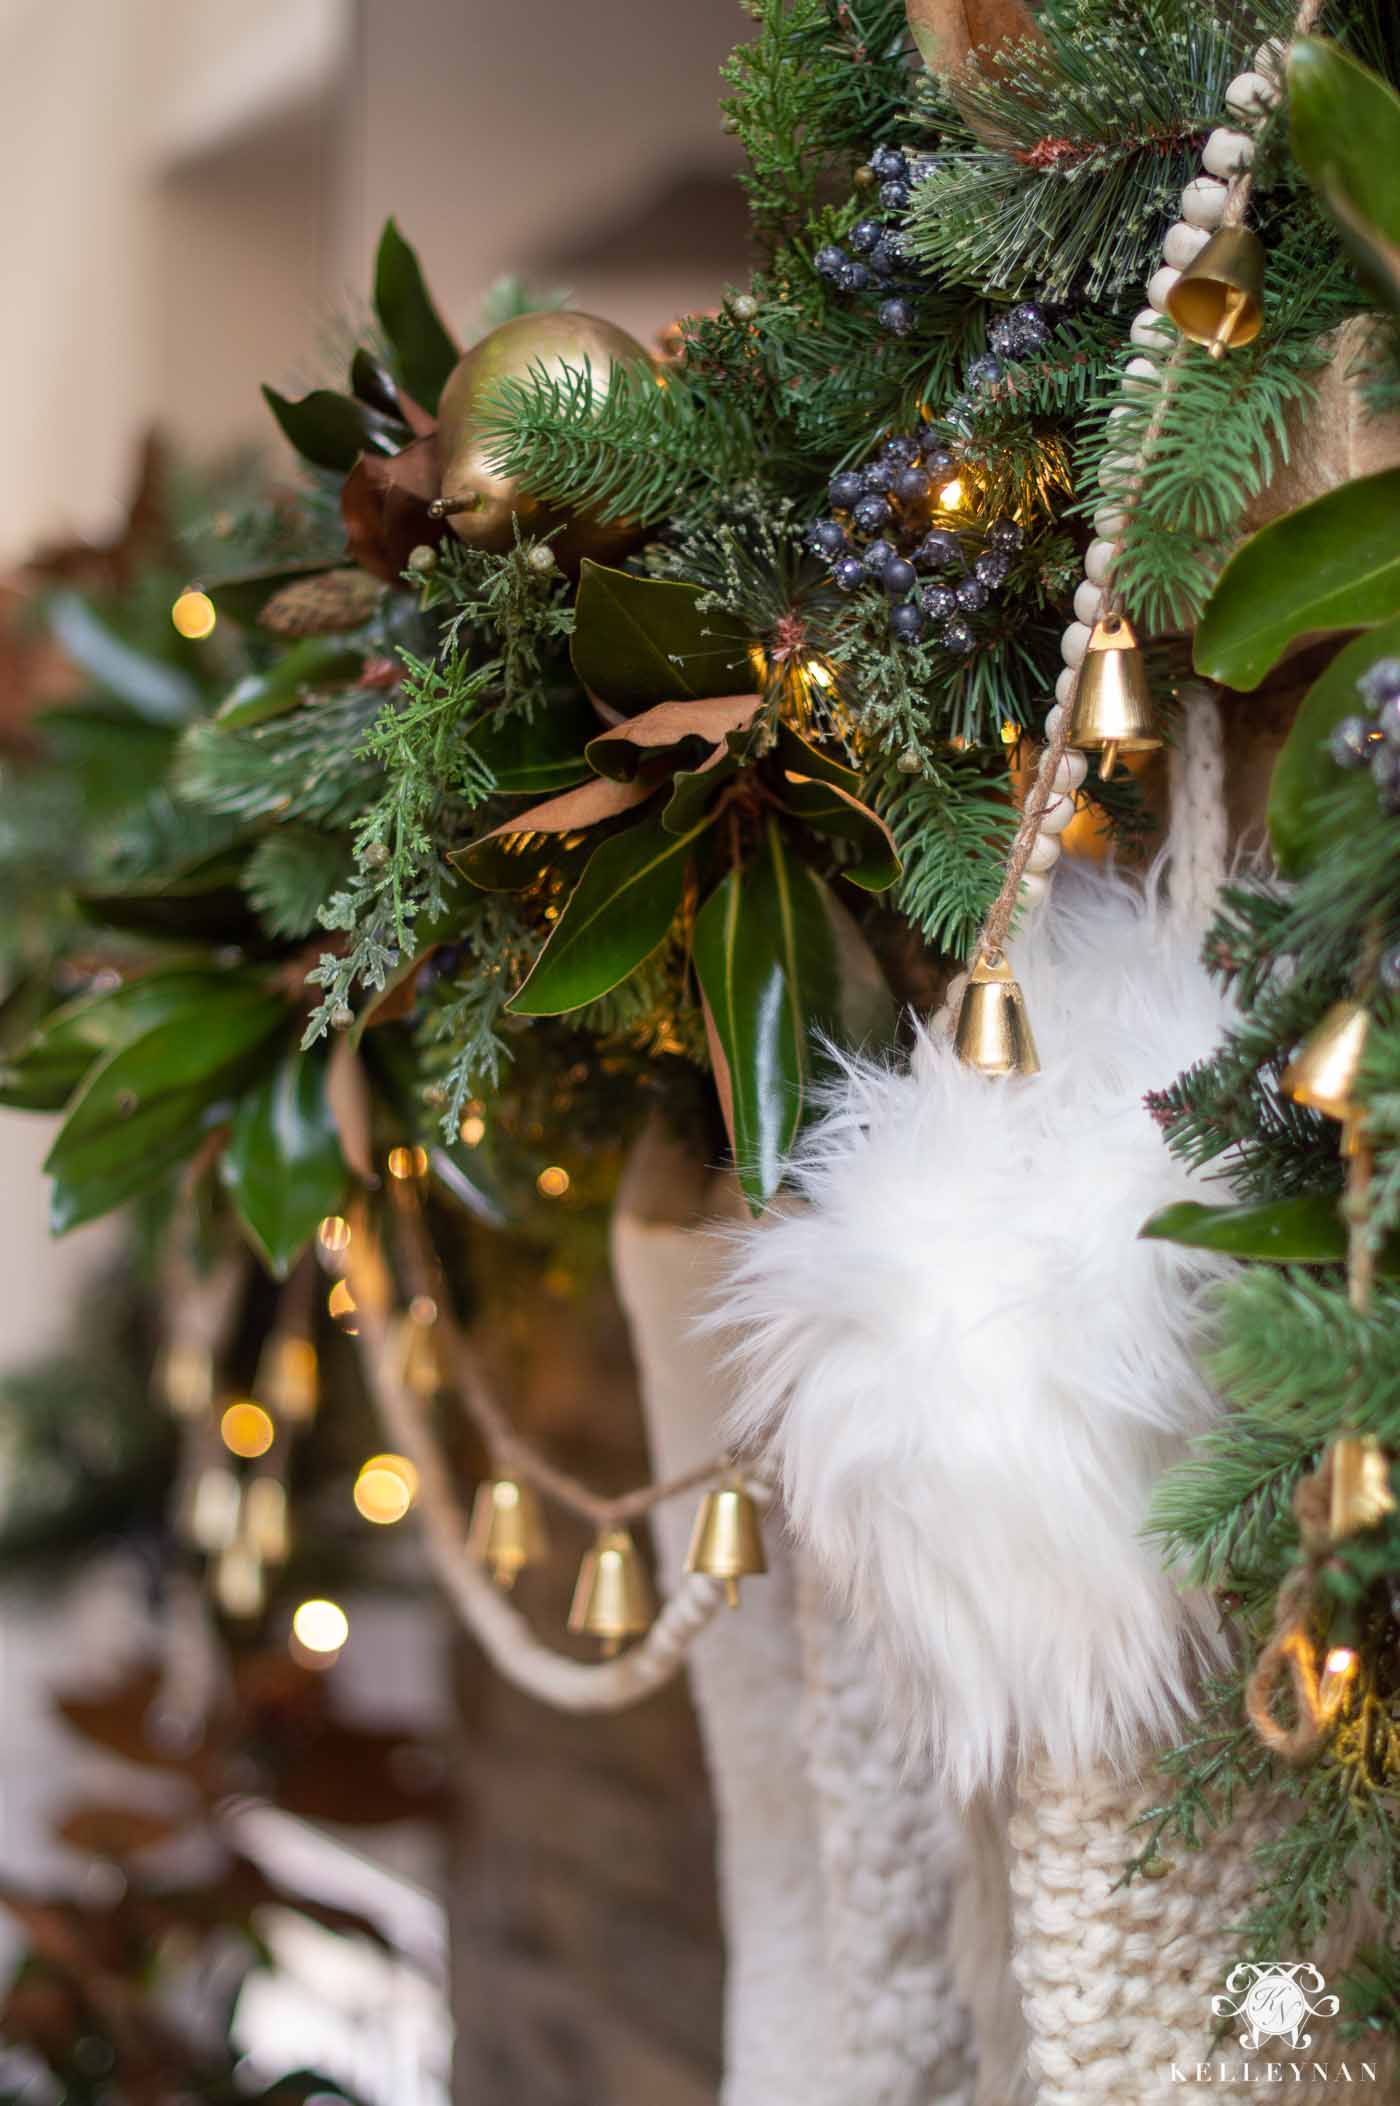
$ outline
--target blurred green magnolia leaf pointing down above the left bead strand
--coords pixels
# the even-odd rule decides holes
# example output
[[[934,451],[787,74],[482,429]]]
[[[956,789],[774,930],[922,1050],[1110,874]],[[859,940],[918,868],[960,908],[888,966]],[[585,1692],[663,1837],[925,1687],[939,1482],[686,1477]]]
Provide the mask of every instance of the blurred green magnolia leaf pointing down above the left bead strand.
[[[267,1270],[284,1280],[341,1211],[349,1173],[326,1093],[322,1049],[288,1053],[238,1104],[219,1175]]]

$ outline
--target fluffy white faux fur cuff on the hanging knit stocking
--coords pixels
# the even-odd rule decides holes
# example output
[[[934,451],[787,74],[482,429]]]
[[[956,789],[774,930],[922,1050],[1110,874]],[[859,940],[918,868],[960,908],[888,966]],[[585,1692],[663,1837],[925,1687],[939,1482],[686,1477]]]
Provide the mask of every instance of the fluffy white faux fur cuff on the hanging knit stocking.
[[[1137,882],[1065,872],[1013,960],[1042,1074],[987,1080],[928,1034],[907,1072],[848,1066],[794,1165],[806,1205],[741,1236],[714,1316],[731,1434],[960,1794],[1015,1750],[1131,1761],[1213,1649],[1139,1533],[1213,1415],[1192,1339],[1221,1261],[1137,1240],[1211,1196],[1143,1108],[1227,1021],[1198,946]]]

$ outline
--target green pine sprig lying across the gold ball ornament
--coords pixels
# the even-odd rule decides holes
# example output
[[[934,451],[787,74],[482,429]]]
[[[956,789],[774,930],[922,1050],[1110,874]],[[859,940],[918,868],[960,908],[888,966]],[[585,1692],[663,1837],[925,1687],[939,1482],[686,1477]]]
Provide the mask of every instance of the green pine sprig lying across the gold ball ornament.
[[[716,404],[682,373],[613,364],[600,396],[587,360],[501,381],[482,415],[497,474],[535,497],[638,522],[665,518],[688,493],[752,472],[756,440],[733,404]]]

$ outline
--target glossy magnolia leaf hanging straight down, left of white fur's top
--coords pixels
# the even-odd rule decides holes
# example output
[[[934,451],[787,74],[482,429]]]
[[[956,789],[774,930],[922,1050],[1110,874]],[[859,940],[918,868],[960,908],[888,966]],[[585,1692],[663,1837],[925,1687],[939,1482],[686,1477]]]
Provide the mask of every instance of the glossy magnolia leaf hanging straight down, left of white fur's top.
[[[731,870],[695,920],[695,971],[743,1194],[779,1188],[802,1120],[813,1032],[836,1026],[840,973],[825,887],[771,819],[758,859]]]

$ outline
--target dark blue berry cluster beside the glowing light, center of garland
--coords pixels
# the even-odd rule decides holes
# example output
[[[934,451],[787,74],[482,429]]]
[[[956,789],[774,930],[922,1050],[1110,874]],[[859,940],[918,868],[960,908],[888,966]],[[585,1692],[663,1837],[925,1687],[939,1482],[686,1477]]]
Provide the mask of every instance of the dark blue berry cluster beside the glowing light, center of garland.
[[[829,562],[840,592],[884,592],[897,642],[928,636],[962,655],[977,642],[968,615],[1006,583],[1023,537],[1015,520],[966,533],[935,526],[939,489],[954,474],[931,425],[901,432],[865,468],[832,476],[832,516],[808,526],[806,545]]]

